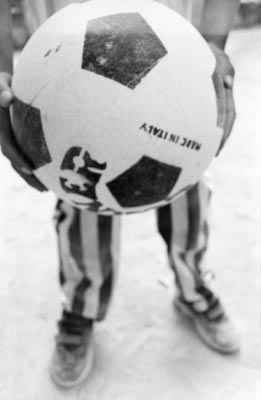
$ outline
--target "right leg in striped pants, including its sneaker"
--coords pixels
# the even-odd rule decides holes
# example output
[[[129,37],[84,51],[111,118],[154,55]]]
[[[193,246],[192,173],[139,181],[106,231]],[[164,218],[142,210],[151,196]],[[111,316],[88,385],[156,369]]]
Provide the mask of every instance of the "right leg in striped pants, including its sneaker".
[[[208,242],[210,191],[200,182],[171,205],[158,210],[179,296],[176,308],[191,318],[204,342],[222,353],[239,349],[237,334],[218,297],[207,287],[201,263]]]

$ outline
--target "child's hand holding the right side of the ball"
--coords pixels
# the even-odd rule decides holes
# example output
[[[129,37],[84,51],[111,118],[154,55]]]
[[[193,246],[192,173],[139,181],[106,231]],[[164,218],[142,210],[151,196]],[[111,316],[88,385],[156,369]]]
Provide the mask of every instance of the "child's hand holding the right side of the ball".
[[[222,50],[212,43],[209,46],[217,60],[213,81],[218,102],[218,126],[224,130],[219,153],[231,133],[236,118],[233,97],[235,71],[228,56]]]

